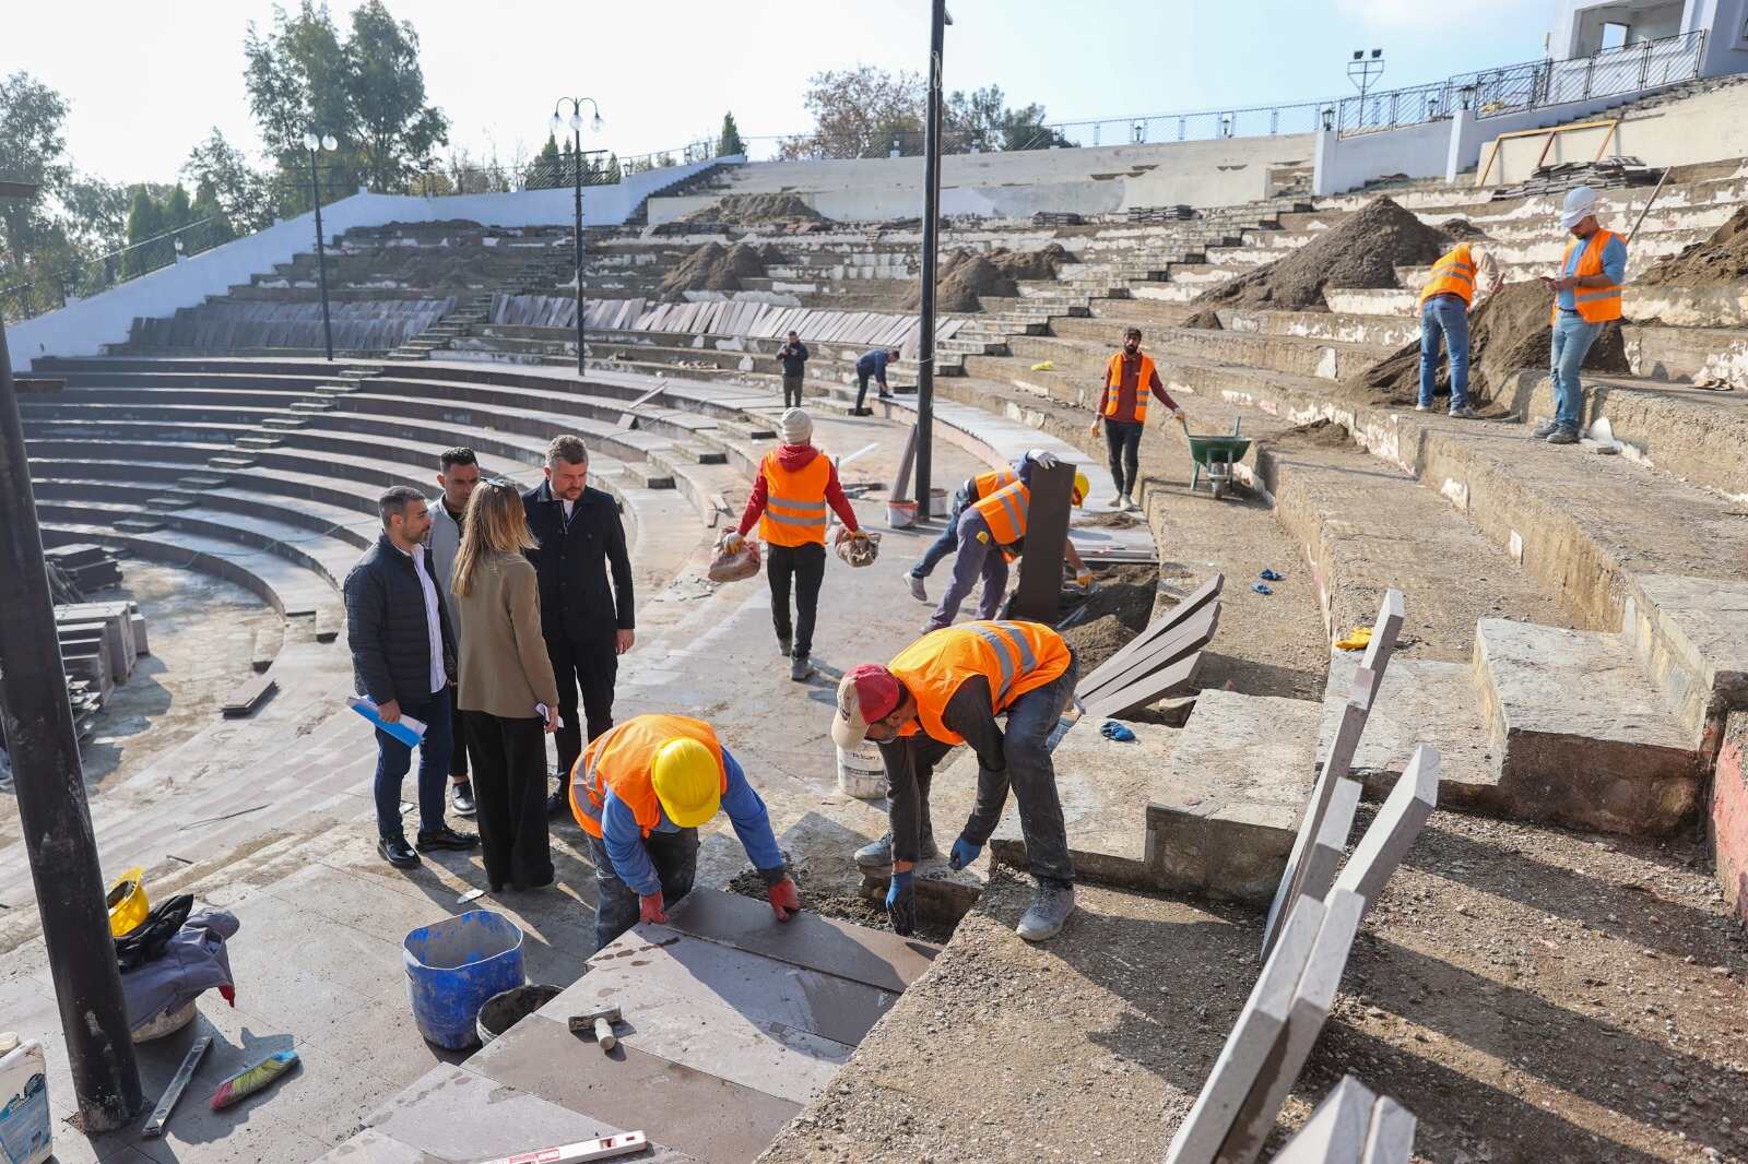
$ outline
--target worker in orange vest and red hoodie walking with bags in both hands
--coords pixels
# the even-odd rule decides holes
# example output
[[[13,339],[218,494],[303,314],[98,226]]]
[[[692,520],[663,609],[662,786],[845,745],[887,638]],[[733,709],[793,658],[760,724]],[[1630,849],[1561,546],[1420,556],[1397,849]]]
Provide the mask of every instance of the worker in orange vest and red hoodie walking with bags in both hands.
[[[741,514],[741,526],[722,538],[727,552],[759,523],[766,544],[766,577],[771,582],[771,622],[776,647],[788,662],[788,676],[797,683],[813,675],[813,624],[820,612],[820,584],[825,580],[825,509],[844,523],[837,540],[865,538],[857,524],[857,510],[844,496],[832,458],[813,447],[813,418],[801,409],[787,409],[778,419],[781,446],[759,461],[759,477]],[[795,619],[788,617],[790,582],[795,585]]]

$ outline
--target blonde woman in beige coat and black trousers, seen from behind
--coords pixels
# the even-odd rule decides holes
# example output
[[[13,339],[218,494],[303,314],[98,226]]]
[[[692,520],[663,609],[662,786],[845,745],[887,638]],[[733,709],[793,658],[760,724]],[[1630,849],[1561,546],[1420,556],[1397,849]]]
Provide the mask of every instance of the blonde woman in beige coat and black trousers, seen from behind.
[[[467,626],[458,706],[495,893],[552,884],[542,729],[558,729],[558,680],[540,636],[535,568],[523,558],[537,545],[516,486],[482,481],[467,503],[451,591]]]

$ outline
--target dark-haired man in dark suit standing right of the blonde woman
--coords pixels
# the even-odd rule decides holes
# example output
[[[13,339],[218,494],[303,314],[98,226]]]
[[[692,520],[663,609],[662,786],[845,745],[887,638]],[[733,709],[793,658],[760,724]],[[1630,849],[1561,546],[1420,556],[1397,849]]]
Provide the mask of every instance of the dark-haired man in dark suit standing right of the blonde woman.
[[[547,446],[545,481],[523,495],[528,528],[540,549],[528,559],[540,577],[540,631],[558,676],[559,786],[549,813],[568,811],[570,769],[582,755],[577,692],[587,739],[614,725],[614,680],[619,655],[631,650],[631,556],[626,526],[612,496],[587,486],[589,449],[580,437],[554,437]],[[612,570],[612,585],[608,585]],[[533,710],[528,711],[533,715]]]

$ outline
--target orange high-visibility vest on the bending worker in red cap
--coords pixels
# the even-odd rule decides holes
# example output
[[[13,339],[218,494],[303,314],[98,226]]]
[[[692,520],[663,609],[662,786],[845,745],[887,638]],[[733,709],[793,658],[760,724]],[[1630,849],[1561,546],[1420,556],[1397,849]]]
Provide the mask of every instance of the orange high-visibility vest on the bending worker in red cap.
[[[982,675],[989,682],[989,710],[1000,715],[1028,690],[1061,676],[1068,659],[1068,643],[1042,622],[961,622],[930,631],[886,664],[916,699],[916,724],[905,724],[898,734],[923,731],[946,745],[965,743],[940,722],[965,680]]]

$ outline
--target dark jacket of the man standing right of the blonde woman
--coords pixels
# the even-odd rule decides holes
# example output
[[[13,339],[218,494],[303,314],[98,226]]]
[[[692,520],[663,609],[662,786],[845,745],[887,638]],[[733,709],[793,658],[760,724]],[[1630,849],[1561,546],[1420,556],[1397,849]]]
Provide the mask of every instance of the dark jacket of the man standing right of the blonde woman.
[[[568,530],[565,503],[552,496],[549,481],[523,493],[523,509],[540,542],[540,549],[528,551],[528,561],[540,577],[540,629],[547,640],[598,643],[633,629],[631,556],[614,498],[584,489]]]

